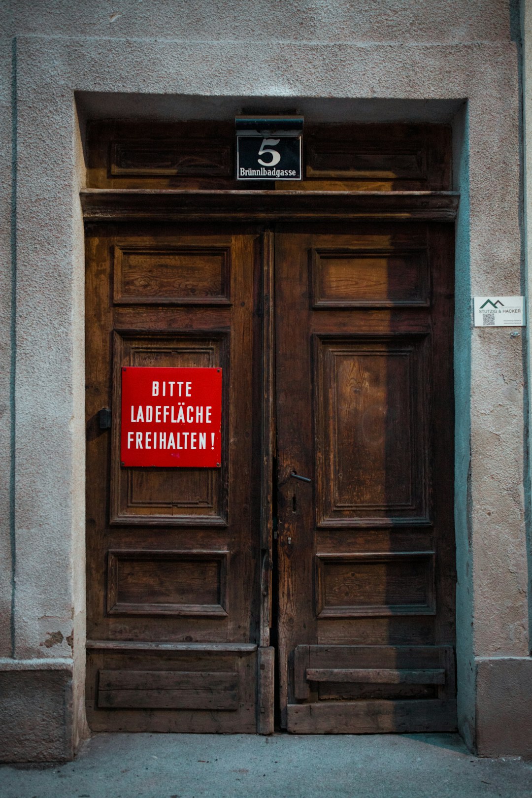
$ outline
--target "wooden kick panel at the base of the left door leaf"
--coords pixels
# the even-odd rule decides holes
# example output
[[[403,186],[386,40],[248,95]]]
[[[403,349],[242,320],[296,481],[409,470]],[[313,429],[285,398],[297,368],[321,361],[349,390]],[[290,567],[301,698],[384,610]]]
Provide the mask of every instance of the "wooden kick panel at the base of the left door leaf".
[[[238,646],[234,646],[236,649]],[[93,731],[254,733],[256,651],[231,645],[89,642]]]

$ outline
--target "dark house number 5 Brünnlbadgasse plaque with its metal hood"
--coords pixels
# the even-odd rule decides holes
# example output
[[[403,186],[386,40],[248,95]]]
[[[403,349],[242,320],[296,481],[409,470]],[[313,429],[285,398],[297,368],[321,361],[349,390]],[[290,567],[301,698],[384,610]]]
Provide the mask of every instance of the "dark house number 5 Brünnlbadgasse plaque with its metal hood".
[[[301,180],[303,117],[236,117],[237,180]]]

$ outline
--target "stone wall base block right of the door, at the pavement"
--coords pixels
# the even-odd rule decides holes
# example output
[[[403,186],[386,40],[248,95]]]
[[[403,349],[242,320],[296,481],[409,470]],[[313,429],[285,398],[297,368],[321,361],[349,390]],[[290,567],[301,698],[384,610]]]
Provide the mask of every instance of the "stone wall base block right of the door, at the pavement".
[[[476,677],[477,753],[532,757],[532,658],[477,658]]]

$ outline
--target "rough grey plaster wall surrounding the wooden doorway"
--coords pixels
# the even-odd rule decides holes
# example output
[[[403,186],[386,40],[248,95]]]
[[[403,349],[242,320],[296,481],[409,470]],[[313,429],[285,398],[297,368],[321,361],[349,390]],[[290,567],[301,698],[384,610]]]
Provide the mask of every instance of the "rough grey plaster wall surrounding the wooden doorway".
[[[420,8],[403,0],[392,13],[384,0],[370,10],[323,2],[306,3],[302,13],[298,4],[288,11],[274,4],[272,20],[281,8],[283,25],[270,21],[266,34],[254,22],[255,4],[245,10],[187,4],[178,19],[174,4],[160,4],[155,13],[151,4],[124,2],[114,22],[109,16],[119,12],[107,3],[12,7],[18,97],[14,654],[74,657],[76,725],[83,733],[84,271],[77,198],[83,166],[74,92],[232,96],[242,97],[242,105],[306,97],[309,108],[312,98],[467,98],[467,114],[456,120],[467,141],[457,178],[464,197],[456,528],[459,702],[472,742],[475,655],[526,656],[529,646],[522,347],[510,330],[471,330],[469,314],[470,291],[518,294],[521,286],[518,53],[507,41],[507,6],[433,0]],[[215,22],[218,41],[207,41]],[[377,33],[381,43],[372,39]],[[9,211],[5,196],[4,206]],[[4,206],[0,200],[0,212]],[[9,554],[6,539],[3,533]],[[8,589],[0,599],[9,606],[9,557],[3,578]]]

